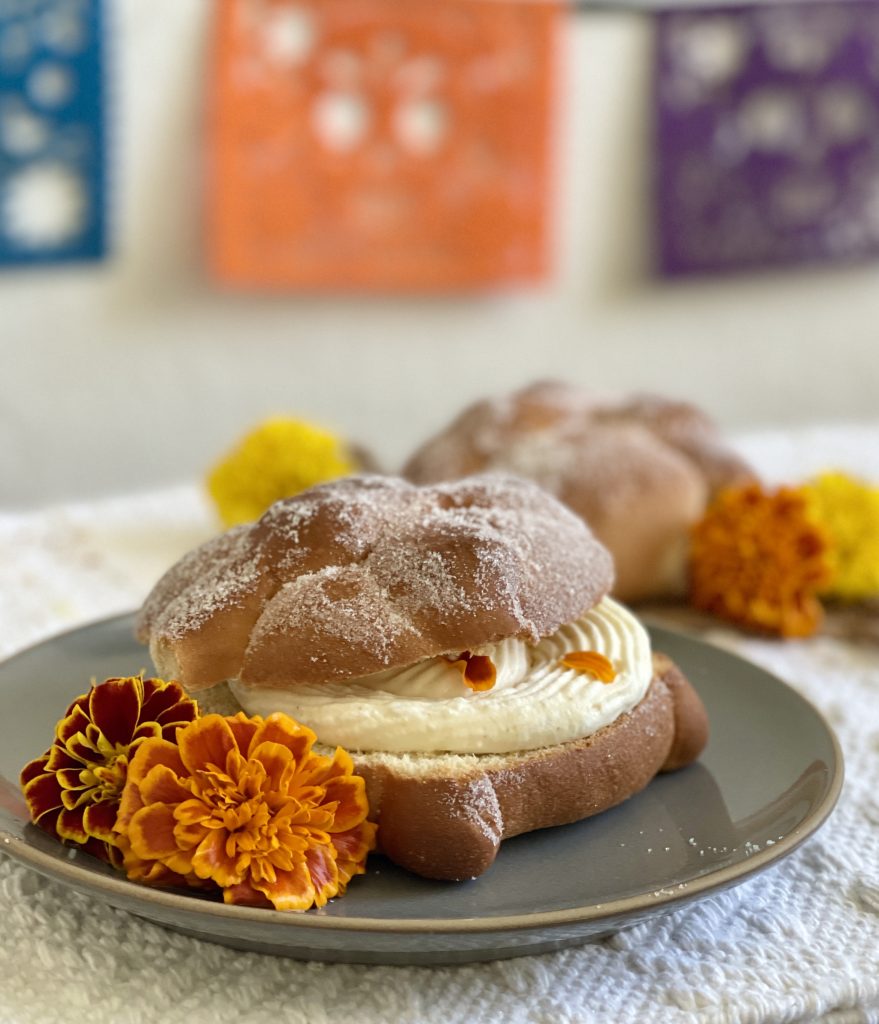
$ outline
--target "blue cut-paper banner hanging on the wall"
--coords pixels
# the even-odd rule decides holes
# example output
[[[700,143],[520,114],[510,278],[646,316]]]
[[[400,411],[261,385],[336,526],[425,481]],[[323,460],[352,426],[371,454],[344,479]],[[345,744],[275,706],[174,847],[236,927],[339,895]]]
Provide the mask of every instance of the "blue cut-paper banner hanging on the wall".
[[[104,250],[99,0],[0,3],[0,265]]]

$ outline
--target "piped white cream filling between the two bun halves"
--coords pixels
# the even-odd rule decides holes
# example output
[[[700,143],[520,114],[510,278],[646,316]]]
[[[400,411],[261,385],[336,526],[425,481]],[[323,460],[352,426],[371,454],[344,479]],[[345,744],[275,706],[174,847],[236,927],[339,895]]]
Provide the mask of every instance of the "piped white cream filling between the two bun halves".
[[[572,651],[610,658],[612,683],[566,668]],[[457,652],[454,652],[457,653]],[[290,689],[232,689],[249,715],[282,711],[323,743],[350,751],[505,754],[589,736],[640,701],[653,678],[650,638],[622,605],[604,598],[538,644],[504,640],[472,653],[497,668],[491,690],[473,692],[460,668],[427,658],[345,682]]]

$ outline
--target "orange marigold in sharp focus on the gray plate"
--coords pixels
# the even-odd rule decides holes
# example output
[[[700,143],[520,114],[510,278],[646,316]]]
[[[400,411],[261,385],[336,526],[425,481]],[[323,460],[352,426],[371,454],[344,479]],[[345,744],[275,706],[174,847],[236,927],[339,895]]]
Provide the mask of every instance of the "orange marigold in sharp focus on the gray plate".
[[[130,879],[213,882],[226,903],[306,910],[375,846],[364,780],[287,715],[206,715],[138,750],[116,829]]]

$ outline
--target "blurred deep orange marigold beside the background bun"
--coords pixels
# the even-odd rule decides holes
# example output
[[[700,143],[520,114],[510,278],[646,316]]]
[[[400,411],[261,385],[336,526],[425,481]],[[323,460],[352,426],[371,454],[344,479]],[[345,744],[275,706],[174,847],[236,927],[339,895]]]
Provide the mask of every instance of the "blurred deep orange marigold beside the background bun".
[[[693,604],[747,628],[814,633],[823,616],[815,595],[831,571],[828,539],[793,487],[730,487],[693,532]]]

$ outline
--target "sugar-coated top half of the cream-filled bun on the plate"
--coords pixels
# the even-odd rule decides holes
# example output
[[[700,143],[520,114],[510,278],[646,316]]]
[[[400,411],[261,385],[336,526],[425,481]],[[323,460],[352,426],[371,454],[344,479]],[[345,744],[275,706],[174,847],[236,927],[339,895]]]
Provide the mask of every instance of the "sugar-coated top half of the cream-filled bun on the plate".
[[[612,585],[608,551],[531,482],[353,476],[185,555],[148,597],[137,632],[187,689],[283,687],[537,641]]]

